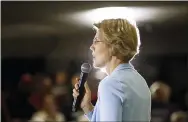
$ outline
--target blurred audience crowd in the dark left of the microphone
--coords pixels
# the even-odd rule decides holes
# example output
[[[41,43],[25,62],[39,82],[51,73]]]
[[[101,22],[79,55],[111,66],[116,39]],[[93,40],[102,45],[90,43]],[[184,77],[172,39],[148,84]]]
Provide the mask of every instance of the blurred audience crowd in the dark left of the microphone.
[[[2,119],[4,122],[22,121],[80,121],[79,110],[71,112],[72,89],[76,83],[74,74],[68,82],[68,74],[60,71],[49,74],[23,74],[18,87],[2,91]],[[96,101],[96,97],[93,97]]]

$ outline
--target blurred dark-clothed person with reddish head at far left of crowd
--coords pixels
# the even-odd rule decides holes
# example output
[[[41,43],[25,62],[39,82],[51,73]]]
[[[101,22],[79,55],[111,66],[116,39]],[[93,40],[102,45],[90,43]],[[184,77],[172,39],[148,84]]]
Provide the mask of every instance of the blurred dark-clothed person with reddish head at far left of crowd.
[[[35,108],[28,102],[28,95],[32,87],[32,75],[23,74],[18,82],[18,87],[10,89],[9,95],[6,98],[6,106],[9,110],[11,121],[27,120],[31,118]]]

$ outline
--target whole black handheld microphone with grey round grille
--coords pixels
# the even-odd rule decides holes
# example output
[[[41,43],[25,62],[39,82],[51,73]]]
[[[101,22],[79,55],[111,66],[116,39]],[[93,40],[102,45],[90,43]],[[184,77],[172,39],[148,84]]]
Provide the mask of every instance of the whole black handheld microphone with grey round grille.
[[[72,104],[72,111],[76,112],[78,107],[80,107],[81,101],[85,94],[85,88],[84,84],[87,80],[88,74],[91,71],[91,65],[89,63],[83,63],[81,66],[81,74],[80,74],[80,80],[79,80],[79,96],[77,98],[74,98],[73,104]]]

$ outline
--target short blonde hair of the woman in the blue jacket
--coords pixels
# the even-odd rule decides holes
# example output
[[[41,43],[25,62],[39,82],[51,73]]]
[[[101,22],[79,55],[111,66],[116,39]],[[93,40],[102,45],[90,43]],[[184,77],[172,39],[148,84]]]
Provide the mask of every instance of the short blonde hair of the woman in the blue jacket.
[[[104,35],[110,53],[123,62],[129,62],[139,52],[140,37],[136,25],[127,19],[105,19],[94,24]]]

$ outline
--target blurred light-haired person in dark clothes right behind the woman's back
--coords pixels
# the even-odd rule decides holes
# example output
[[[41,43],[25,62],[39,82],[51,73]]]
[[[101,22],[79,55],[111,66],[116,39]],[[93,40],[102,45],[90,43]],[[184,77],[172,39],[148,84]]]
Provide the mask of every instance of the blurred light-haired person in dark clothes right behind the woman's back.
[[[171,88],[165,83],[154,82],[151,87],[152,122],[169,122],[172,112],[177,108],[169,103]]]

